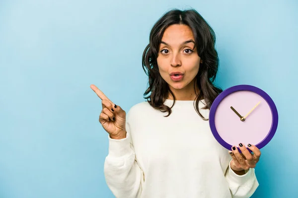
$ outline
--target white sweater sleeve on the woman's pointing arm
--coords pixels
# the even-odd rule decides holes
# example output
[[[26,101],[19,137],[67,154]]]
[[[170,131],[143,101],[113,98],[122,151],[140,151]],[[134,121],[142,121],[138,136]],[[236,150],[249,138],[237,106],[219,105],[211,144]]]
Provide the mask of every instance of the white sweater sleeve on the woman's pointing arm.
[[[135,159],[129,124],[126,137],[109,138],[109,152],[104,163],[106,183],[116,198],[139,198],[142,193],[144,174]]]

